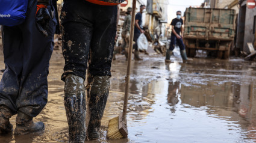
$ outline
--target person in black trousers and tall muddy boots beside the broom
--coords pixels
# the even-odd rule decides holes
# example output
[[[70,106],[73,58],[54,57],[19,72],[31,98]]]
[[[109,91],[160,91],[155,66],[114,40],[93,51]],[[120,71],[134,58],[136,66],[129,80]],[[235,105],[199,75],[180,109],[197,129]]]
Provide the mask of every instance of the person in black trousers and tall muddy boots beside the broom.
[[[111,3],[112,2],[112,3]],[[116,2],[116,3],[114,3]],[[64,106],[69,125],[69,142],[86,138],[87,62],[92,81],[89,91],[88,139],[99,138],[99,127],[110,90],[111,61],[116,37],[117,5],[120,0],[65,0],[63,26]]]

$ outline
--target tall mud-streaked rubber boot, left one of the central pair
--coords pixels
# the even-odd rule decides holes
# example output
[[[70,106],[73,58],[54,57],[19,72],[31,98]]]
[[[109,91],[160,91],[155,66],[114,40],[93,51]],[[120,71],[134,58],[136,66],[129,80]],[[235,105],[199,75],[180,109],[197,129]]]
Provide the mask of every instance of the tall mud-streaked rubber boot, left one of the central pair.
[[[86,139],[86,94],[84,79],[67,75],[64,87],[64,106],[69,124],[69,142],[80,143]]]

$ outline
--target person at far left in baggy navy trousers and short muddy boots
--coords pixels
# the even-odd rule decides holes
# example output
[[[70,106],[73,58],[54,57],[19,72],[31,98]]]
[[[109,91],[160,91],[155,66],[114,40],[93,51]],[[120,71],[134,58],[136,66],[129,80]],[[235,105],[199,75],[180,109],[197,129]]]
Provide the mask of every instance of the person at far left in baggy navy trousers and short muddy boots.
[[[33,122],[47,103],[48,68],[58,26],[57,0],[29,0],[27,19],[3,26],[6,70],[0,82],[0,133],[12,132],[10,117],[17,114],[14,134],[40,132]]]

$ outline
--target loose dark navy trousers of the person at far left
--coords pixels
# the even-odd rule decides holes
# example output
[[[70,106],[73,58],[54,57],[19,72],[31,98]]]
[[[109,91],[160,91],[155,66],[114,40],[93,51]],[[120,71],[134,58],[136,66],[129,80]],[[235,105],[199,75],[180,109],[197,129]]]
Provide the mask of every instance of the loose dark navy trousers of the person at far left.
[[[48,68],[54,46],[57,20],[51,19],[48,37],[35,24],[37,1],[31,1],[25,22],[3,26],[4,62],[7,69],[0,82],[0,105],[12,114],[22,111],[36,117],[47,103]],[[48,6],[48,10],[53,10]]]

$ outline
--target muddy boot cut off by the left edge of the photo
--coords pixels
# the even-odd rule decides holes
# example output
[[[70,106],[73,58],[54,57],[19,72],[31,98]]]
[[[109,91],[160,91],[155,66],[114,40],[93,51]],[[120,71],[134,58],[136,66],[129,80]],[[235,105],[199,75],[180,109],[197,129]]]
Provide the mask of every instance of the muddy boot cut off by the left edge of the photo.
[[[13,131],[13,125],[10,123],[11,111],[6,106],[0,106],[0,134]]]

